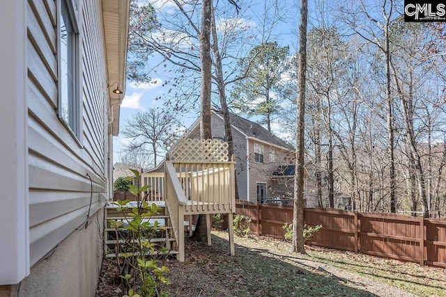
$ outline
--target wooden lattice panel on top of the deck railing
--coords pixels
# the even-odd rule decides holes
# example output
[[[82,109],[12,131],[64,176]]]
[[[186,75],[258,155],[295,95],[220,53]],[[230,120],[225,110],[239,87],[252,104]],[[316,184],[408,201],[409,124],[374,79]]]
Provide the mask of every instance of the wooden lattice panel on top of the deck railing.
[[[226,162],[228,143],[220,139],[183,138],[171,145],[168,151],[171,161],[178,162]]]

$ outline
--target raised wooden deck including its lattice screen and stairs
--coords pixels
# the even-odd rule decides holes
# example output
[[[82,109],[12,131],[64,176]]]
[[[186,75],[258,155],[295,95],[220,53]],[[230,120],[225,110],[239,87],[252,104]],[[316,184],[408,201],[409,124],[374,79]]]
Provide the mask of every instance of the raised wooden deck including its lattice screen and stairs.
[[[180,139],[166,156],[162,167],[141,174],[141,186],[150,186],[144,199],[157,204],[159,214],[150,220],[158,221],[164,230],[153,239],[164,245],[180,262],[185,260],[184,241],[192,235],[192,217],[206,215],[208,246],[210,216],[228,214],[232,225],[236,212],[235,161],[228,158],[228,144],[220,140]],[[107,257],[116,257],[116,230],[109,220],[125,220],[128,216],[109,205],[105,207],[105,243]],[[189,227],[190,226],[190,227]],[[235,254],[233,230],[229,228],[231,255]],[[118,255],[119,256],[119,255]]]

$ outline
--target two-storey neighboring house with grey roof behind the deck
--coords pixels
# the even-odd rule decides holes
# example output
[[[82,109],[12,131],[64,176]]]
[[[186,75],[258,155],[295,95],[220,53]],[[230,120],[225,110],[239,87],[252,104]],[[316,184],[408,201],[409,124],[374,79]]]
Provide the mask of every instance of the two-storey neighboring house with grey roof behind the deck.
[[[230,119],[240,200],[267,202],[293,197],[289,183],[272,173],[278,166],[293,166],[294,148],[255,122],[232,113]],[[212,109],[210,120],[212,137],[224,140],[222,113]],[[199,137],[199,123],[197,119],[183,137]]]

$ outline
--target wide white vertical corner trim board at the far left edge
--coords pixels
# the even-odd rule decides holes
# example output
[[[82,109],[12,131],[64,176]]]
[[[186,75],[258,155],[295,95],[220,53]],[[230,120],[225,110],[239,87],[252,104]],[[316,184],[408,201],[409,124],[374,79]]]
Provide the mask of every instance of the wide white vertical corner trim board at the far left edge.
[[[26,1],[2,1],[1,13],[0,284],[17,284],[29,275]]]

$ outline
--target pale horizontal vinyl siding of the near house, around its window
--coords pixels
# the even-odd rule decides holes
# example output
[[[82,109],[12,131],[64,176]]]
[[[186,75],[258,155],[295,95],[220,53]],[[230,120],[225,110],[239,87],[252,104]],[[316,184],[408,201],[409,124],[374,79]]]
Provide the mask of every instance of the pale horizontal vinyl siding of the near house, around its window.
[[[107,72],[100,2],[79,0],[79,65],[75,66],[79,69],[76,136],[80,138],[72,137],[55,112],[60,108],[57,28],[61,6],[52,0],[28,3],[29,225],[33,265],[85,222],[90,207],[90,215],[102,207],[100,193],[107,191]],[[93,184],[91,206],[87,173]]]

